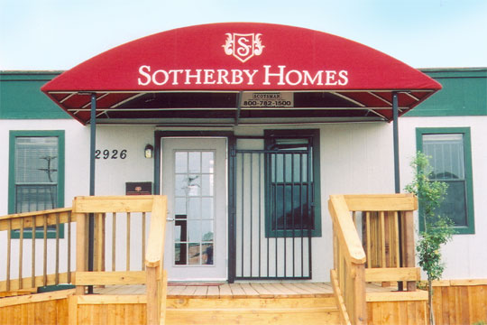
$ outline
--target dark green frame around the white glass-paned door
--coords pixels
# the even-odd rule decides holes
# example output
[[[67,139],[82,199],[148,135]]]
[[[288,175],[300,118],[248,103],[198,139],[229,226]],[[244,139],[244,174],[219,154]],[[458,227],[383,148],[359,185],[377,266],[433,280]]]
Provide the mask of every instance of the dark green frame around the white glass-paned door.
[[[161,194],[161,140],[165,137],[225,137],[227,144],[227,183],[226,200],[228,204],[227,210],[227,282],[234,283],[235,278],[235,255],[234,255],[234,198],[230,195],[230,190],[234,186],[233,180],[233,160],[230,159],[231,151],[234,150],[235,137],[233,131],[161,131],[154,132],[154,190],[156,195]],[[162,193],[163,194],[163,193]]]

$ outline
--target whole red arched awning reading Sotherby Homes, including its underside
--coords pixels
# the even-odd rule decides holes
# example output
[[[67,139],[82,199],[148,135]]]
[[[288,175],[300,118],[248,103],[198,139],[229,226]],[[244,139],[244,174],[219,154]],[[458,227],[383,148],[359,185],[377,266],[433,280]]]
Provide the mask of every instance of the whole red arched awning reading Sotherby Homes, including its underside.
[[[401,115],[440,88],[399,60],[325,32],[213,23],[128,42],[41,90],[84,124],[89,93],[97,123],[252,124],[389,121],[393,92]]]

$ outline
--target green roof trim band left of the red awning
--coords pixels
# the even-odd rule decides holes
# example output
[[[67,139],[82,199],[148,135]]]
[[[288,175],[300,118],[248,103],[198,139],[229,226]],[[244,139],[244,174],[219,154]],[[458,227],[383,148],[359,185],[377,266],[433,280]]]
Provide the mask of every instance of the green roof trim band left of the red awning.
[[[0,71],[0,119],[71,119],[41,92],[62,71]]]

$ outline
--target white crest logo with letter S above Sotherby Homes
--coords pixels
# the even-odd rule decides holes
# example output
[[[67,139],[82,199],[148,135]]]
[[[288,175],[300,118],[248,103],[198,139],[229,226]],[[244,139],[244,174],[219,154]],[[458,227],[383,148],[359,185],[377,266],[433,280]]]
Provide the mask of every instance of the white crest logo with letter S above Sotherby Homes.
[[[226,42],[222,47],[226,55],[233,55],[238,60],[245,62],[254,55],[261,55],[265,46],[262,45],[261,36],[258,33],[225,33]]]

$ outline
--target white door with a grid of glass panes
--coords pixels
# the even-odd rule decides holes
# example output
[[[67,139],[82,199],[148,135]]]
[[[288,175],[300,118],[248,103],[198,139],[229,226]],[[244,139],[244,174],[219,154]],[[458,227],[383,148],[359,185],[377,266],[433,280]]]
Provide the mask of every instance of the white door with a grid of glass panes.
[[[162,138],[161,148],[168,278],[226,280],[226,139]]]

